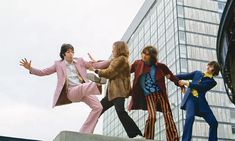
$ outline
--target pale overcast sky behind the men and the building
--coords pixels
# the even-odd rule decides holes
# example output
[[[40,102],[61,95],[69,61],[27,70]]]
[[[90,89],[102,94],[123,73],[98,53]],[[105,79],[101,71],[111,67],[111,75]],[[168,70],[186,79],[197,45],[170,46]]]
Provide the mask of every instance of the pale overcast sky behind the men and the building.
[[[51,141],[62,130],[79,131],[90,108],[52,109],[56,75],[37,77],[20,59],[45,68],[70,43],[75,56],[107,59],[144,0],[0,0],[0,136]],[[101,99],[103,96],[99,96]],[[102,122],[95,129],[102,134]]]

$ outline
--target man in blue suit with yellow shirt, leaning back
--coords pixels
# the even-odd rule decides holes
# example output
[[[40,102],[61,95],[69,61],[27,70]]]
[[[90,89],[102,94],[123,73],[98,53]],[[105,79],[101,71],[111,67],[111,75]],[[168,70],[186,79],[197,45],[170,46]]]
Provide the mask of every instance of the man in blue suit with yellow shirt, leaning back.
[[[204,118],[209,124],[209,141],[217,141],[218,122],[206,101],[205,95],[207,91],[216,86],[217,83],[213,76],[217,76],[219,70],[219,64],[211,61],[207,64],[205,72],[194,71],[176,75],[180,79],[179,83],[188,87],[181,103],[181,109],[186,110],[182,141],[191,141],[195,116]]]

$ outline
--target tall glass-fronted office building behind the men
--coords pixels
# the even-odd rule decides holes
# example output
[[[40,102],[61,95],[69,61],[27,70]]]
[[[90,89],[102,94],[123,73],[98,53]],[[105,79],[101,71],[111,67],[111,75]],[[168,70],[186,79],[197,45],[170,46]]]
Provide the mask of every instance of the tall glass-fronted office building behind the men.
[[[204,71],[208,61],[217,60],[216,39],[225,4],[226,0],[146,0],[122,37],[129,45],[130,62],[140,59],[144,46],[154,45],[159,51],[159,62],[167,64],[174,74]],[[226,95],[221,75],[215,80],[217,86],[206,97],[219,123],[219,140],[232,141],[235,140],[232,132],[234,105]],[[185,112],[180,109],[180,103],[183,95],[171,81],[166,81],[166,86],[174,121],[182,137]],[[144,132],[147,111],[131,111],[129,115]],[[165,141],[162,113],[157,113],[155,126],[155,139]],[[103,134],[127,136],[114,108],[104,114]],[[196,117],[193,141],[207,141],[208,134],[207,123]]]

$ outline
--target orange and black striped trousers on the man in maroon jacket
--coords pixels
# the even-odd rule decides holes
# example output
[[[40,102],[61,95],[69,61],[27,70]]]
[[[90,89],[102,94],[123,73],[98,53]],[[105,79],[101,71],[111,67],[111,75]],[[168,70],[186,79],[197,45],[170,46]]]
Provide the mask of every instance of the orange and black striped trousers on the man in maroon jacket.
[[[155,122],[156,122],[156,105],[160,102],[163,117],[165,120],[166,128],[166,138],[167,141],[179,141],[179,136],[177,129],[173,120],[172,112],[167,101],[161,94],[150,94],[145,97],[147,109],[148,109],[148,119],[146,120],[144,137],[146,139],[154,139],[155,133]]]

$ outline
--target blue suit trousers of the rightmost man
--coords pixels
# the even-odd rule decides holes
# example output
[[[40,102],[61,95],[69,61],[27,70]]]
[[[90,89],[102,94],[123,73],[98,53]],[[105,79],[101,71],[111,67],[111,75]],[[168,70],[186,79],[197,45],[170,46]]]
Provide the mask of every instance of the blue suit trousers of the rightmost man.
[[[198,105],[199,105],[198,99],[190,95],[186,103],[186,120],[184,125],[182,141],[191,141],[193,123],[195,115],[198,113]],[[202,113],[201,115],[210,126],[208,140],[217,141],[218,122],[214,114],[212,113],[212,111],[209,111],[208,113]]]

